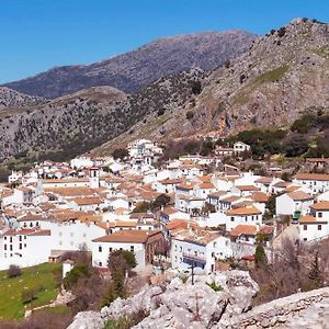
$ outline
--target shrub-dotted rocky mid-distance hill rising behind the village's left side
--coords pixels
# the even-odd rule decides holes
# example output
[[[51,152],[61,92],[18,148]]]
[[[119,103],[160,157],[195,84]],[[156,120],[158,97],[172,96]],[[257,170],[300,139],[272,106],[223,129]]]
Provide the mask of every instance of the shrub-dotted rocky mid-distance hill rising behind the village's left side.
[[[192,69],[160,78],[133,95],[94,87],[36,106],[8,107],[10,115],[0,111],[0,159],[71,158],[123,134],[150,113],[161,125],[206,75]]]

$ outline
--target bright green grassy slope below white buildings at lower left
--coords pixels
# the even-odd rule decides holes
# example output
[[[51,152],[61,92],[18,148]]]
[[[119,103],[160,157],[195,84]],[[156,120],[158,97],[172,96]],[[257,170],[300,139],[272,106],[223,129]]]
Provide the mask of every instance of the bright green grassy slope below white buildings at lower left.
[[[21,294],[24,287],[32,288],[42,285],[44,291],[38,293],[32,306],[37,307],[48,304],[57,295],[54,272],[61,271],[61,264],[39,264],[33,268],[22,269],[22,275],[7,279],[7,272],[0,272],[0,318],[22,319],[24,317],[24,305]]]

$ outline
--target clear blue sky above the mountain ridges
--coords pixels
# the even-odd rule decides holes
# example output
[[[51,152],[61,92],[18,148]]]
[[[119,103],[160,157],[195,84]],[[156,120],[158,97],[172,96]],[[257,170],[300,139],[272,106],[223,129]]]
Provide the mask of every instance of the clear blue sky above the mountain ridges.
[[[0,82],[201,31],[329,21],[329,0],[0,0]]]

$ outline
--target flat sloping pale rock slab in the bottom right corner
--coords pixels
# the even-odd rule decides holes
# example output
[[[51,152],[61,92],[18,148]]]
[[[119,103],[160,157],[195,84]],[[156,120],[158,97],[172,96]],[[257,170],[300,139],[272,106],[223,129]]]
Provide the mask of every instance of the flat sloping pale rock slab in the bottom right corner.
[[[217,329],[329,328],[329,287],[298,293],[254,307]]]

